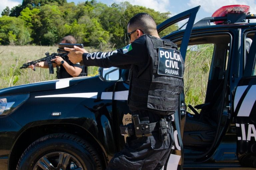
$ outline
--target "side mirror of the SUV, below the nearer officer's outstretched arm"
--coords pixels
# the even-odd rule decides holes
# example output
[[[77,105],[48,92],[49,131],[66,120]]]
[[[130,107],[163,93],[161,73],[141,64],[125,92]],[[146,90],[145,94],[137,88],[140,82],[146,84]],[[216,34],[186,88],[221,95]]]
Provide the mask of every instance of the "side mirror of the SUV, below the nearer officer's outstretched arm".
[[[117,67],[100,68],[99,78],[102,81],[119,81],[121,79],[121,69]]]

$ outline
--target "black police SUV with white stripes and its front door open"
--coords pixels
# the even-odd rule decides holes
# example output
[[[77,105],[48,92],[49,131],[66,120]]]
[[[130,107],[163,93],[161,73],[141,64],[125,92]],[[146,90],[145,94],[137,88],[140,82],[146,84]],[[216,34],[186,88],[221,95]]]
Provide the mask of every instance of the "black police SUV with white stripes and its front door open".
[[[194,113],[187,113],[180,95],[174,151],[163,169],[256,168],[256,23],[250,23],[256,16],[249,6],[230,5],[194,24],[199,8],[157,27],[161,32],[187,19],[186,29],[163,37],[184,60],[189,45],[214,44],[205,102],[189,105]],[[132,122],[129,70],[99,72],[1,89],[0,169],[105,169],[125,144],[119,126]]]

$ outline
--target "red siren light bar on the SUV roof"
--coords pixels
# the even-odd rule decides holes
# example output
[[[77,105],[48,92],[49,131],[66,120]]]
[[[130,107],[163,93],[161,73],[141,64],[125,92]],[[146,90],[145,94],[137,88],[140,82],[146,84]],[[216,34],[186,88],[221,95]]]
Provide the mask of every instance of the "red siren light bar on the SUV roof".
[[[217,9],[213,14],[212,17],[224,17],[227,14],[248,14],[250,11],[250,6],[248,5],[227,5]],[[221,24],[224,21],[216,21],[213,22],[214,24]]]

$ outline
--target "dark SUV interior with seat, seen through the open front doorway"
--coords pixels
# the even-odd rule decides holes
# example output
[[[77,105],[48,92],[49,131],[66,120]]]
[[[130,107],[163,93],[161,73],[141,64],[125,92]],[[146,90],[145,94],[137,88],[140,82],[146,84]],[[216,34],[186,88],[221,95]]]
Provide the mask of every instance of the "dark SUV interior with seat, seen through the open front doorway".
[[[176,43],[178,45],[180,44],[180,42]],[[226,93],[224,91],[224,80],[226,77],[231,35],[223,33],[191,36],[189,45],[198,44],[214,44],[214,50],[205,103],[196,106],[191,106],[189,103],[186,103],[192,113],[187,112],[183,134],[183,146],[185,153],[186,149],[196,150],[197,152],[193,152],[193,154],[197,153],[200,155],[211,147],[223,112],[222,101]]]

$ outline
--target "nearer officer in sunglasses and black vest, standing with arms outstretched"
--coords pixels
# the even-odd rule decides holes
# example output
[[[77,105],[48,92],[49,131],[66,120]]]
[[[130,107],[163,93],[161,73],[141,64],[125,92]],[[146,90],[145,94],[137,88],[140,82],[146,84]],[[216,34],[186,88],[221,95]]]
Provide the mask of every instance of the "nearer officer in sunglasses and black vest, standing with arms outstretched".
[[[65,50],[73,63],[131,69],[128,106],[133,123],[120,126],[121,133],[130,136],[107,169],[161,169],[173,145],[171,115],[183,90],[184,62],[176,44],[159,38],[149,14],[132,17],[127,32],[131,43],[115,51],[89,53],[76,46]]]

